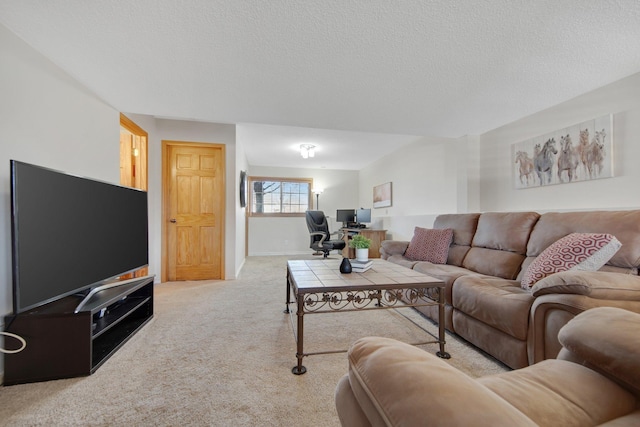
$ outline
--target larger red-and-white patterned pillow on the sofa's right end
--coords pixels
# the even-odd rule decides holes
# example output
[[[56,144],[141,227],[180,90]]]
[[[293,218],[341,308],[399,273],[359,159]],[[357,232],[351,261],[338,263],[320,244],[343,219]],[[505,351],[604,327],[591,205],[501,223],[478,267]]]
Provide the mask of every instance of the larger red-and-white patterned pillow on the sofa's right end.
[[[611,234],[569,234],[558,239],[529,264],[520,284],[528,290],[538,280],[560,271],[599,270],[621,246]]]

